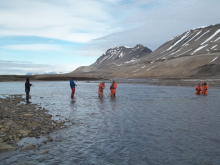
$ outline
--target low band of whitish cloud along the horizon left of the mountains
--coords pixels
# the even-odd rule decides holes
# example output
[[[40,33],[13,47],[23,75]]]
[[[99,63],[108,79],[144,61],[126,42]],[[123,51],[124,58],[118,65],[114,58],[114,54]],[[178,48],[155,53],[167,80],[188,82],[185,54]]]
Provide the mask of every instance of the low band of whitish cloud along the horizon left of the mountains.
[[[80,65],[48,65],[48,64],[34,64],[28,61],[4,61],[0,60],[0,75],[17,74],[24,75],[26,73],[45,73],[45,72],[71,72]]]

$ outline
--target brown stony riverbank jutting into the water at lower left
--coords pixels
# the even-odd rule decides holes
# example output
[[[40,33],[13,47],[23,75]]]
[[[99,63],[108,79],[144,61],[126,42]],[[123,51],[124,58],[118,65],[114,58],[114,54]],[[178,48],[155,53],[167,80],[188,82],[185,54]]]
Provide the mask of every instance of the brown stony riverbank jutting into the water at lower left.
[[[26,104],[21,95],[0,98],[0,152],[37,148],[33,144],[18,146],[18,142],[25,137],[44,136],[46,140],[43,143],[53,141],[49,134],[66,125],[65,121],[52,120],[52,115],[47,112],[36,104]]]

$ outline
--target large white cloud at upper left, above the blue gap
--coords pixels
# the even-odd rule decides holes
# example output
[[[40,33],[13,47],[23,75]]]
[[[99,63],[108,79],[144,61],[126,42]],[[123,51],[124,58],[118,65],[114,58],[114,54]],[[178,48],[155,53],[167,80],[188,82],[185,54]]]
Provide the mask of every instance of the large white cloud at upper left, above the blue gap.
[[[1,1],[0,36],[38,36],[87,42],[108,34],[112,17],[103,3],[83,1]]]

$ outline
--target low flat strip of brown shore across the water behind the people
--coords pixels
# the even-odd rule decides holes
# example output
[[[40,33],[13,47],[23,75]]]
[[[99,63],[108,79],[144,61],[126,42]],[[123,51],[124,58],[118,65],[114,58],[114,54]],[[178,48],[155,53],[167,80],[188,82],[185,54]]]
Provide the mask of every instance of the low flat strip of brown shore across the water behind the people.
[[[31,81],[69,81],[72,76],[67,75],[0,75],[0,82],[16,82],[25,81],[29,77]],[[76,81],[101,81],[101,77],[74,77]],[[104,79],[106,82],[111,82],[111,79]],[[220,79],[211,78],[139,78],[139,79],[118,79],[118,83],[134,83],[148,84],[156,86],[197,86],[198,83],[208,83],[210,87],[220,87]]]

